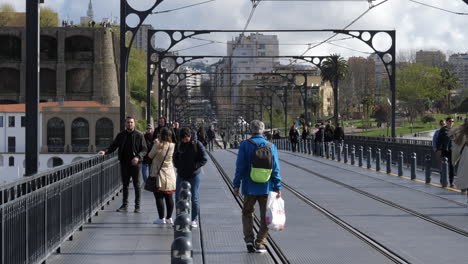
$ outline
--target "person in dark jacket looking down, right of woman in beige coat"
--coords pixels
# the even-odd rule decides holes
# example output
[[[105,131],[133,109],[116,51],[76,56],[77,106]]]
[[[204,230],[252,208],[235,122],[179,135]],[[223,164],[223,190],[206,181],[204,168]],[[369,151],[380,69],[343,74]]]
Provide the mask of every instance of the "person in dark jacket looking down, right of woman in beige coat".
[[[183,181],[191,185],[192,193],[192,228],[198,227],[199,213],[198,187],[200,186],[200,169],[208,161],[205,147],[198,140],[191,140],[189,128],[180,129],[180,144],[174,154],[174,166],[177,169],[176,201],[179,199],[180,186]]]

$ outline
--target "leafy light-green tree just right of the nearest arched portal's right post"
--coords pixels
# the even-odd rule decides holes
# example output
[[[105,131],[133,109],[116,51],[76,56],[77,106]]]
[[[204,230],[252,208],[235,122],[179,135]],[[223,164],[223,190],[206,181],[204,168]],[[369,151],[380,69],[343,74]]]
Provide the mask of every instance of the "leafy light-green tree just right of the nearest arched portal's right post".
[[[435,100],[446,95],[446,91],[440,89],[440,76],[439,68],[420,63],[410,64],[398,72],[397,98],[411,124],[417,115],[430,109]]]

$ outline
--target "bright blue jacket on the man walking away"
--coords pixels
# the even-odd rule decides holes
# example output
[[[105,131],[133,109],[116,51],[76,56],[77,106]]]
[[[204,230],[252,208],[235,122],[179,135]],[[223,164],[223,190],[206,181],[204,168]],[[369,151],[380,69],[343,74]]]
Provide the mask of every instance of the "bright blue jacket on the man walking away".
[[[266,146],[268,141],[261,135],[252,136],[251,139],[259,146]],[[242,182],[243,195],[266,195],[272,190],[281,190],[281,176],[278,161],[278,151],[276,146],[271,146],[273,155],[273,170],[270,180],[266,183],[256,183],[250,179],[250,169],[252,166],[253,152],[255,145],[244,140],[239,146],[239,153],[236,161],[236,176],[234,177],[234,188],[239,188]]]

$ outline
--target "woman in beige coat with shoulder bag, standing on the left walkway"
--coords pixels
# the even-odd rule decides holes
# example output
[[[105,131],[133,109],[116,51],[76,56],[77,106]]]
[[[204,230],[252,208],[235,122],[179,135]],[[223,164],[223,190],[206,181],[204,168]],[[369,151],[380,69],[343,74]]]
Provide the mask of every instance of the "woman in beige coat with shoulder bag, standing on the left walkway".
[[[164,127],[148,154],[148,157],[152,159],[152,167],[145,189],[152,191],[156,200],[159,218],[153,221],[154,224],[173,224],[171,216],[174,210],[174,199],[172,194],[176,190],[176,175],[172,164],[174,148],[172,132]],[[164,203],[167,214],[164,214]]]

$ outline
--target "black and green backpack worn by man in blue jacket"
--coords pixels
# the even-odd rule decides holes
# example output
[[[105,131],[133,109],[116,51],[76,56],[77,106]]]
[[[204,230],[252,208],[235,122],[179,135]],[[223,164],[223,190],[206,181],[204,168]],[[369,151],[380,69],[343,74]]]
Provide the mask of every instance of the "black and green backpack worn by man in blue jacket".
[[[257,183],[265,183],[270,179],[273,171],[273,154],[271,152],[271,142],[264,147],[260,147],[252,139],[247,139],[255,145],[255,150],[252,157],[252,167],[250,170],[250,179]]]

